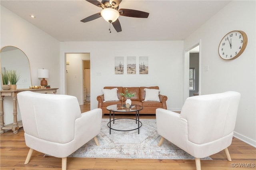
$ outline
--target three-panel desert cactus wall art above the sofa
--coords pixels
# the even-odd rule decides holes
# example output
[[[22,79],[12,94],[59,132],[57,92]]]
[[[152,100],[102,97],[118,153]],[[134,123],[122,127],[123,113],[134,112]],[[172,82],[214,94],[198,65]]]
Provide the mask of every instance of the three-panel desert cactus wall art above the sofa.
[[[148,57],[138,57],[138,61],[136,59],[137,57],[128,56],[125,62],[124,57],[115,57],[115,74],[124,74],[124,71],[127,74],[148,74]]]

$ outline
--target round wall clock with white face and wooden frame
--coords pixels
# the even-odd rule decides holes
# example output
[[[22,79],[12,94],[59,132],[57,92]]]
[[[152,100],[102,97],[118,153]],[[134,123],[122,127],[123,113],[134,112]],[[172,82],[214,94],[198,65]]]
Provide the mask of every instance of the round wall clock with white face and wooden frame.
[[[226,34],[219,45],[219,55],[229,60],[239,57],[247,45],[247,36],[243,31],[231,31]]]

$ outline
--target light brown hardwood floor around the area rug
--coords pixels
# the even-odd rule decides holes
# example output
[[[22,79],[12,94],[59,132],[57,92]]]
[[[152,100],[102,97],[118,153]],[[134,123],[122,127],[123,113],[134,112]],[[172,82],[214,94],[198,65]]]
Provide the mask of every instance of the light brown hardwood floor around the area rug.
[[[80,106],[81,111],[90,105]],[[104,115],[103,118],[109,118]],[[155,119],[152,115],[141,115],[140,119]],[[46,156],[34,151],[30,162],[24,165],[29,148],[25,144],[23,128],[18,134],[11,130],[0,135],[1,170],[60,170],[61,158]],[[232,162],[224,151],[210,156],[213,160],[201,160],[202,170],[254,170],[256,148],[234,138],[228,148]],[[236,167],[233,168],[232,164]],[[67,170],[195,170],[195,160],[117,159],[117,158],[68,158]]]

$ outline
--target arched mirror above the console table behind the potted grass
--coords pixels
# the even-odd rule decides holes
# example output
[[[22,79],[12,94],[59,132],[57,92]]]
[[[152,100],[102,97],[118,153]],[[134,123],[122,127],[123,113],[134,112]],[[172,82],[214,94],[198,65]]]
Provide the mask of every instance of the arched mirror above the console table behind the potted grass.
[[[28,89],[31,86],[30,64],[22,50],[14,46],[3,47],[0,52],[0,65],[1,75],[2,71],[6,70],[16,70],[20,74],[17,89]]]

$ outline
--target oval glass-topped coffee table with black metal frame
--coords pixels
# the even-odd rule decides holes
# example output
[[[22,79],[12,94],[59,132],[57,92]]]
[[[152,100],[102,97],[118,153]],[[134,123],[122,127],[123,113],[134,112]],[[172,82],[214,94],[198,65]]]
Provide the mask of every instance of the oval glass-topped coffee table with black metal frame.
[[[140,134],[140,127],[142,126],[142,123],[140,122],[140,110],[143,109],[142,106],[131,105],[130,108],[126,108],[125,106],[119,104],[119,105],[110,105],[106,107],[106,109],[109,111],[109,122],[108,122],[109,134],[111,134],[111,129],[117,130],[117,131],[132,131],[132,130],[138,129],[138,134]],[[130,130],[119,130],[119,129],[111,128],[111,122],[115,124],[115,121],[118,120],[118,119],[115,119],[115,112],[120,112],[120,113],[135,112],[136,119],[133,119],[133,120],[135,120],[136,124],[138,123],[138,128],[134,128]],[[112,113],[113,113],[113,120],[111,120]],[[120,118],[120,119],[130,119],[130,118]]]

